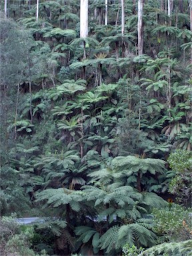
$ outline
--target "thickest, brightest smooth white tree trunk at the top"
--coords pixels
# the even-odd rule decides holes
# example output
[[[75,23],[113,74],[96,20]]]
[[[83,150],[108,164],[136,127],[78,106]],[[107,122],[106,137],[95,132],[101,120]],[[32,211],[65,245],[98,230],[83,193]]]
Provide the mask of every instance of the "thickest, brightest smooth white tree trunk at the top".
[[[80,37],[88,36],[88,0],[80,2]]]

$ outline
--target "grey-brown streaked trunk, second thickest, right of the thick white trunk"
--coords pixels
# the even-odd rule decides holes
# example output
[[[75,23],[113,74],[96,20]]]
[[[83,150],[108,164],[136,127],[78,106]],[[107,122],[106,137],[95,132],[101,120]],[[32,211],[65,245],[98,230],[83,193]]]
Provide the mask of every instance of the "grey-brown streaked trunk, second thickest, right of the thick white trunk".
[[[145,0],[138,0],[138,55],[143,54],[143,4]]]

